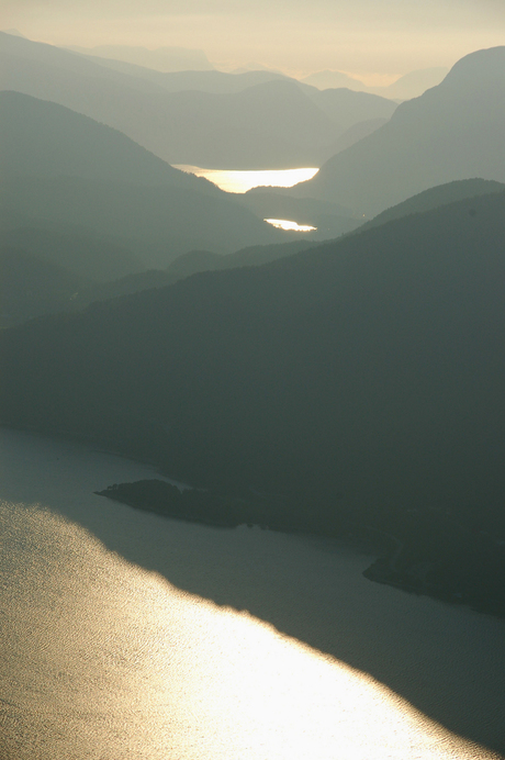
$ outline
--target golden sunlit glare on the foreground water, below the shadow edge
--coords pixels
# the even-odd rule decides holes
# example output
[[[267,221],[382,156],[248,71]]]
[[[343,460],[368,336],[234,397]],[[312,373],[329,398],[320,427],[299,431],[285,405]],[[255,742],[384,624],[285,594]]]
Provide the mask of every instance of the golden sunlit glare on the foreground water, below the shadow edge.
[[[491,757],[370,675],[48,510],[3,502],[0,519],[2,760]]]

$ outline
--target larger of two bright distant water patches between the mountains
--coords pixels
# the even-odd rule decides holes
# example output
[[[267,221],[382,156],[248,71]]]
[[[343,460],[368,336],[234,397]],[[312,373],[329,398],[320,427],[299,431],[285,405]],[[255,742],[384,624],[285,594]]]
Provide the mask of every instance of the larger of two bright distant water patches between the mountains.
[[[199,166],[179,164],[181,169],[197,177],[205,177],[226,192],[247,192],[251,188],[277,187],[292,188],[293,185],[312,179],[318,169],[314,167],[301,169],[263,169],[260,171],[232,171],[225,169],[202,169]]]

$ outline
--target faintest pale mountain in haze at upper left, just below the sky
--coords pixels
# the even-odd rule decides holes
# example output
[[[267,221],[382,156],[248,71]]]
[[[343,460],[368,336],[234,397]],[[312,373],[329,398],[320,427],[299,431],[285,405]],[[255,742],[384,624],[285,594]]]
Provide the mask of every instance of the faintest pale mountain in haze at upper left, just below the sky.
[[[85,53],[100,58],[124,60],[136,66],[145,66],[158,71],[204,71],[214,67],[203,51],[188,47],[146,47],[132,45],[97,45],[96,47],[69,47],[76,53]]]

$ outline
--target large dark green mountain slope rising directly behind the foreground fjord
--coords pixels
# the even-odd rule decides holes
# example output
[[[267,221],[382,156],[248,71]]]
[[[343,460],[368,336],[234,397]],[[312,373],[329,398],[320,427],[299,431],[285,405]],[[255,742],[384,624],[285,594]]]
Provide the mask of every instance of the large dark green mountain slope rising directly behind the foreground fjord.
[[[504,241],[493,193],[8,331],[1,418],[332,508],[487,508],[505,488]]]

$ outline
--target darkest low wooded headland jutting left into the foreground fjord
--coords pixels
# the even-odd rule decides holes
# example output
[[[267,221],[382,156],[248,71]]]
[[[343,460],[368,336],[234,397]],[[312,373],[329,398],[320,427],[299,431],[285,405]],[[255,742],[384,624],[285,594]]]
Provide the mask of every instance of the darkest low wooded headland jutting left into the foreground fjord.
[[[218,528],[257,525],[283,533],[348,539],[379,555],[363,574],[404,591],[505,616],[505,540],[496,515],[391,508],[350,515],[306,499],[179,490],[162,480],[114,483],[98,495],[165,517]],[[501,523],[501,521],[498,521]],[[503,522],[503,521],[502,521]],[[493,527],[494,526],[494,527]]]

